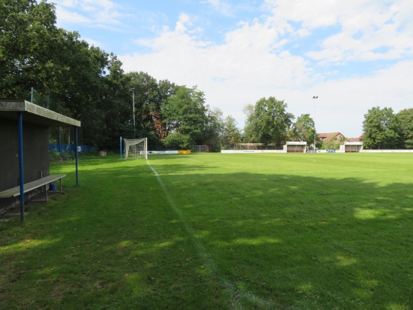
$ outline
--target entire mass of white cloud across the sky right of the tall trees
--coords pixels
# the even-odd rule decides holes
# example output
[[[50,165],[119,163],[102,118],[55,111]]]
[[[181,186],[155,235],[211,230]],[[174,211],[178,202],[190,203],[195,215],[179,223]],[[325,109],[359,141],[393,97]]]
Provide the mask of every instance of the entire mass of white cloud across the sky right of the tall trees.
[[[317,5],[314,1],[298,1],[302,8],[293,10],[291,2],[267,1],[274,6],[271,16],[240,22],[226,33],[222,44],[200,41],[195,23],[188,15],[180,15],[173,30],[165,28],[158,37],[140,41],[153,52],[121,55],[120,59],[126,71],[142,70],[156,79],[198,85],[206,94],[207,103],[234,116],[240,127],[244,125],[243,107],[264,96],[285,100],[288,111],[295,116],[314,116],[316,112],[319,132],[339,131],[346,136],[362,134],[363,115],[371,107],[393,107],[398,112],[411,106],[405,98],[413,98],[409,85],[413,61],[395,63],[355,79],[328,80],[304,56],[285,49],[286,43],[308,37],[319,27],[335,26],[339,32],[321,37],[319,49],[308,52],[310,59],[323,61],[324,65],[400,59],[408,51],[405,39],[410,32],[399,34],[394,21],[389,22],[397,15],[394,10],[389,13],[381,4],[379,8],[383,10],[375,15],[374,1],[317,1]],[[294,3],[297,5],[297,1]],[[301,26],[290,24],[291,20]],[[299,33],[290,34],[293,31]],[[388,38],[390,48],[383,47],[380,38]],[[316,111],[313,95],[319,96]]]

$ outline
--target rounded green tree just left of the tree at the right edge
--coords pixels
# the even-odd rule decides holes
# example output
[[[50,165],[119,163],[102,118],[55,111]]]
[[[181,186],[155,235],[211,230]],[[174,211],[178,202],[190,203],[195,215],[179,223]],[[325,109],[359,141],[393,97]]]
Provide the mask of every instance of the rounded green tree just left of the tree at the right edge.
[[[363,147],[366,149],[395,149],[401,147],[399,117],[391,107],[372,107],[364,114]]]

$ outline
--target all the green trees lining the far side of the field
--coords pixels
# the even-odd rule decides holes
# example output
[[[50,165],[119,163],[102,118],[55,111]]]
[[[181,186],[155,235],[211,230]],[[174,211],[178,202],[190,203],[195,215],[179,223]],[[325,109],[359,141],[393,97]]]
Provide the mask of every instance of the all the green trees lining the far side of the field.
[[[117,149],[119,136],[145,136],[152,149],[209,145],[212,151],[240,142],[296,140],[310,146],[315,136],[309,114],[295,119],[287,104],[272,96],[245,107],[242,132],[233,116],[206,104],[198,87],[125,73],[116,54],[89,46],[78,32],[56,28],[55,7],[45,1],[0,0],[0,76],[1,99],[30,100],[36,90],[34,103],[79,119],[81,142],[100,149]],[[412,109],[369,110],[365,146],[413,148],[412,114]]]

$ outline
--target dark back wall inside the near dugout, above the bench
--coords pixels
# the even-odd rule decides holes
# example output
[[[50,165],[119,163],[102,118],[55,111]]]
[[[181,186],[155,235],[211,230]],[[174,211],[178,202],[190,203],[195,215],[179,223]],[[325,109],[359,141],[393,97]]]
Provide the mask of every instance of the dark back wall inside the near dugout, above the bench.
[[[20,185],[17,121],[0,118],[0,191]],[[49,175],[49,128],[24,123],[24,183]]]

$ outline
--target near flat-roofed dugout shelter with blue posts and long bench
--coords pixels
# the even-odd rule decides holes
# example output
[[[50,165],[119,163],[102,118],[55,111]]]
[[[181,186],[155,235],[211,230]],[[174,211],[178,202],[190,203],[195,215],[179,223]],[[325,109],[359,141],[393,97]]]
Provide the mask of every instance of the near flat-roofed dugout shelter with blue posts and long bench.
[[[19,197],[22,221],[25,196],[32,190],[46,186],[47,181],[61,180],[65,176],[50,176],[50,127],[74,127],[76,150],[78,149],[80,121],[28,101],[0,101],[0,208],[6,208],[13,203],[14,198]],[[76,185],[77,153],[75,152]]]

